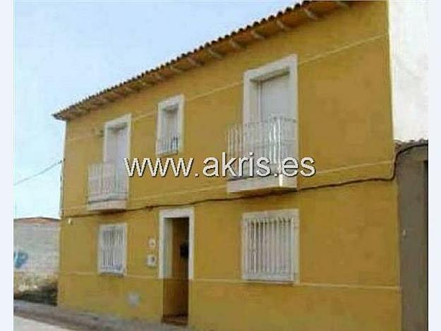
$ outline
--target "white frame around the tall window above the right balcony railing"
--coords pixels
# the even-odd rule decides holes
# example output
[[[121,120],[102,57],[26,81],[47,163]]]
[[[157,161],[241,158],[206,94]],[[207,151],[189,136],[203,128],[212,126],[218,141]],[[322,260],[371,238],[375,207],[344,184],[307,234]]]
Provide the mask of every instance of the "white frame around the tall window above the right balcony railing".
[[[289,74],[289,95],[291,95],[289,108],[292,109],[293,119],[298,118],[297,55],[291,54],[259,68],[250,69],[243,74],[243,123],[260,121],[259,83],[284,73]]]

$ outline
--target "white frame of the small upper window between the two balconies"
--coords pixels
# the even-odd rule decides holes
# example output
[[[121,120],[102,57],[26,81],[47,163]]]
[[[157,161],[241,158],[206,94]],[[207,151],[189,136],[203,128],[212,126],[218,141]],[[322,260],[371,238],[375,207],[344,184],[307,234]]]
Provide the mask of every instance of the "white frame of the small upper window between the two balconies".
[[[178,152],[183,150],[183,107],[184,107],[185,98],[183,95],[175,95],[174,97],[169,97],[166,100],[158,103],[158,113],[157,113],[157,141],[163,138],[164,127],[163,127],[163,116],[164,112],[167,112],[167,109],[171,107],[177,107],[177,116],[178,116],[178,133],[179,133],[179,148]],[[158,150],[158,145],[156,144],[156,155],[164,156],[171,155],[174,152],[161,152]]]

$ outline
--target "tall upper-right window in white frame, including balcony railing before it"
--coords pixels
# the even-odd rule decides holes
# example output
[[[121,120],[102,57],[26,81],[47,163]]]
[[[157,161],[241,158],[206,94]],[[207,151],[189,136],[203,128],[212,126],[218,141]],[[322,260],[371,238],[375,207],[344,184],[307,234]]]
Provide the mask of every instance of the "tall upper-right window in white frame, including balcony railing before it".
[[[272,172],[279,171],[286,157],[298,157],[296,120],[296,55],[246,71],[243,123],[229,131],[230,157],[253,153],[255,161],[266,157]]]

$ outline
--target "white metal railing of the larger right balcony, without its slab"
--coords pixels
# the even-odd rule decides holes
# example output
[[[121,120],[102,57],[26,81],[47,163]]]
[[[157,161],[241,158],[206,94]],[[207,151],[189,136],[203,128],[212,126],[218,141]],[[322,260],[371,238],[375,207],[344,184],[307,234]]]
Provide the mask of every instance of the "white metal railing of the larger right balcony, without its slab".
[[[280,174],[282,161],[293,155],[295,142],[295,119],[274,116],[265,121],[235,124],[227,131],[227,157],[250,157],[253,152],[254,165],[259,157],[270,161],[271,173]],[[234,162],[234,172],[238,174],[239,162]],[[256,170],[256,167],[254,167]],[[243,164],[242,176],[230,176],[241,179],[250,176],[248,162]]]

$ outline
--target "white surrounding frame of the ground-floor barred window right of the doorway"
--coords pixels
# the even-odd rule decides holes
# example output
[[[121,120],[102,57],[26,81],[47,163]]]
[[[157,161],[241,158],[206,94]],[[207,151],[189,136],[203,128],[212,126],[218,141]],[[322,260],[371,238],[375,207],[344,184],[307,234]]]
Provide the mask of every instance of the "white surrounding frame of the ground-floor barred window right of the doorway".
[[[268,220],[274,219],[289,219],[290,220],[290,228],[291,228],[291,241],[287,243],[289,246],[289,253],[291,256],[291,261],[289,262],[289,275],[286,275],[286,272],[258,272],[250,270],[252,267],[252,263],[247,261],[250,258],[250,250],[255,248],[251,248],[248,245],[248,224],[255,222],[267,222]],[[275,222],[275,221],[273,221]],[[255,224],[255,223],[254,223]],[[242,238],[242,251],[241,251],[241,264],[242,264],[242,279],[248,282],[298,282],[298,270],[299,270],[299,213],[298,209],[291,210],[265,210],[262,212],[246,212],[243,214],[242,222],[241,222],[241,238]],[[273,230],[274,231],[274,230]],[[279,231],[279,230],[277,230]],[[278,232],[279,233],[279,232]],[[273,232],[274,234],[274,232]],[[260,241],[260,243],[262,243]],[[272,248],[270,251],[266,250],[266,247],[263,248],[264,251],[263,260],[266,263],[272,264],[272,260],[277,257],[277,248],[274,248],[274,243],[270,242],[270,246]],[[265,243],[264,243],[265,245]],[[260,248],[262,249],[262,248]],[[288,257],[289,258],[289,257]],[[277,267],[274,267],[274,269]]]

